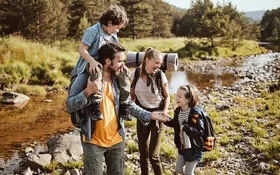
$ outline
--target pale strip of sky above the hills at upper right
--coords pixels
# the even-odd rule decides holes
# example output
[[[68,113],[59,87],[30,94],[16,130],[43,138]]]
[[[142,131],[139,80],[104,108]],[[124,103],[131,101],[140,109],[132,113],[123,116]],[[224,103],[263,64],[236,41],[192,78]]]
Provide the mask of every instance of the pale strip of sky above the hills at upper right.
[[[171,5],[179,8],[190,8],[191,0],[163,0]],[[232,2],[240,12],[258,11],[258,10],[271,10],[280,8],[280,0],[211,0],[214,5],[219,2],[226,4]]]

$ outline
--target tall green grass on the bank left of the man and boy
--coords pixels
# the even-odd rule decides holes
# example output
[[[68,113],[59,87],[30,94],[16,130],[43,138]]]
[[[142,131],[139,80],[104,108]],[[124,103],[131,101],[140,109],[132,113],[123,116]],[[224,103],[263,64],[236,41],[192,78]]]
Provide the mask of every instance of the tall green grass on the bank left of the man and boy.
[[[77,51],[64,51],[62,45],[44,45],[14,36],[0,38],[0,44],[0,82],[4,87],[69,84]]]

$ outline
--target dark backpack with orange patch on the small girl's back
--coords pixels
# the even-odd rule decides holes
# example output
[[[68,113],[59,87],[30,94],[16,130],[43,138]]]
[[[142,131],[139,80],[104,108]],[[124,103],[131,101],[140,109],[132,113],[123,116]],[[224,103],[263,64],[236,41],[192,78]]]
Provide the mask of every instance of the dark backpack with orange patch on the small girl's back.
[[[204,121],[204,135],[203,135],[204,145],[202,151],[203,152],[211,151],[215,148],[215,142],[216,142],[216,137],[215,137],[211,118],[209,117],[208,113],[200,107],[196,108],[195,111],[201,114]],[[189,116],[191,116],[191,112]]]

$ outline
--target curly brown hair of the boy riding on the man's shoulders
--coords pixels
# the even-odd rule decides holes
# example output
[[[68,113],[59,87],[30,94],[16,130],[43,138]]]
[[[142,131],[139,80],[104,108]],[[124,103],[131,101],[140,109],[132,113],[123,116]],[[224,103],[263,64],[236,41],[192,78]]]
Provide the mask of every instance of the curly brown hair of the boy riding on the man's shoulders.
[[[100,16],[99,22],[108,26],[109,21],[112,21],[113,25],[124,24],[125,26],[128,23],[128,18],[124,8],[118,5],[111,5],[108,7],[108,9]]]

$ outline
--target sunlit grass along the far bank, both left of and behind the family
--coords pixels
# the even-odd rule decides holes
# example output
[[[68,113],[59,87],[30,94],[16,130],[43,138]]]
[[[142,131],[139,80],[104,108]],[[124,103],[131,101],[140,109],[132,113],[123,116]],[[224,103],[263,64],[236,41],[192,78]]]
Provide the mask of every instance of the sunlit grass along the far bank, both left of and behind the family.
[[[144,52],[147,48],[154,47],[161,52],[176,52],[182,60],[202,59],[208,55],[213,58],[227,58],[263,51],[254,41],[244,41],[234,52],[231,52],[230,48],[219,47],[209,50],[205,41],[205,39],[184,37],[142,38],[135,41],[130,38],[120,38],[126,52]],[[189,46],[190,42],[192,45]],[[19,84],[48,85],[58,89],[66,87],[69,84],[69,74],[79,57],[78,46],[79,41],[75,40],[62,40],[44,45],[20,36],[0,38],[2,88],[17,90]]]

